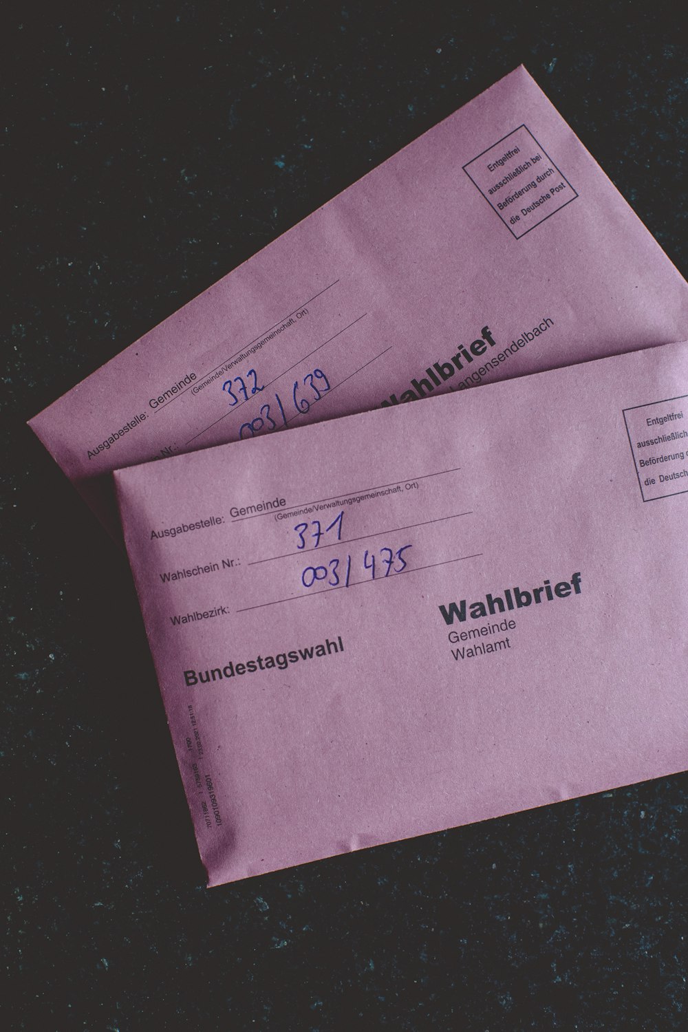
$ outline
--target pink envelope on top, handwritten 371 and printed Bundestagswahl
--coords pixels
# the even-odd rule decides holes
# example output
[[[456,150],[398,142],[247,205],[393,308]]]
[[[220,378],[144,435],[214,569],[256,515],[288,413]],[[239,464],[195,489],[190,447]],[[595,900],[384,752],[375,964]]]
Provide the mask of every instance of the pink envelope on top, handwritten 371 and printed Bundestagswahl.
[[[114,480],[210,885],[685,767],[688,344]]]

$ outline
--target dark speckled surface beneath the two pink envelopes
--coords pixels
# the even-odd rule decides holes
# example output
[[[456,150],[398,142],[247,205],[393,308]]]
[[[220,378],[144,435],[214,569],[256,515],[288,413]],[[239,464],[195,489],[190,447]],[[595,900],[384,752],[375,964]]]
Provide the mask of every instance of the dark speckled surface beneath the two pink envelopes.
[[[0,33],[3,1027],[685,1029],[685,776],[206,891],[125,560],[23,425],[520,62],[685,275],[679,8],[58,8]]]

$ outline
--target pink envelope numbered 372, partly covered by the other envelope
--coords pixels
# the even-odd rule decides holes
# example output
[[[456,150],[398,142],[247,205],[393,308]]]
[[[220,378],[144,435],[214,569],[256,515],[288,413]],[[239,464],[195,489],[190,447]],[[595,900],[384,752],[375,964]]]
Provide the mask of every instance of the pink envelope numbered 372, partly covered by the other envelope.
[[[117,535],[113,469],[686,336],[685,281],[517,68],[31,426]]]

